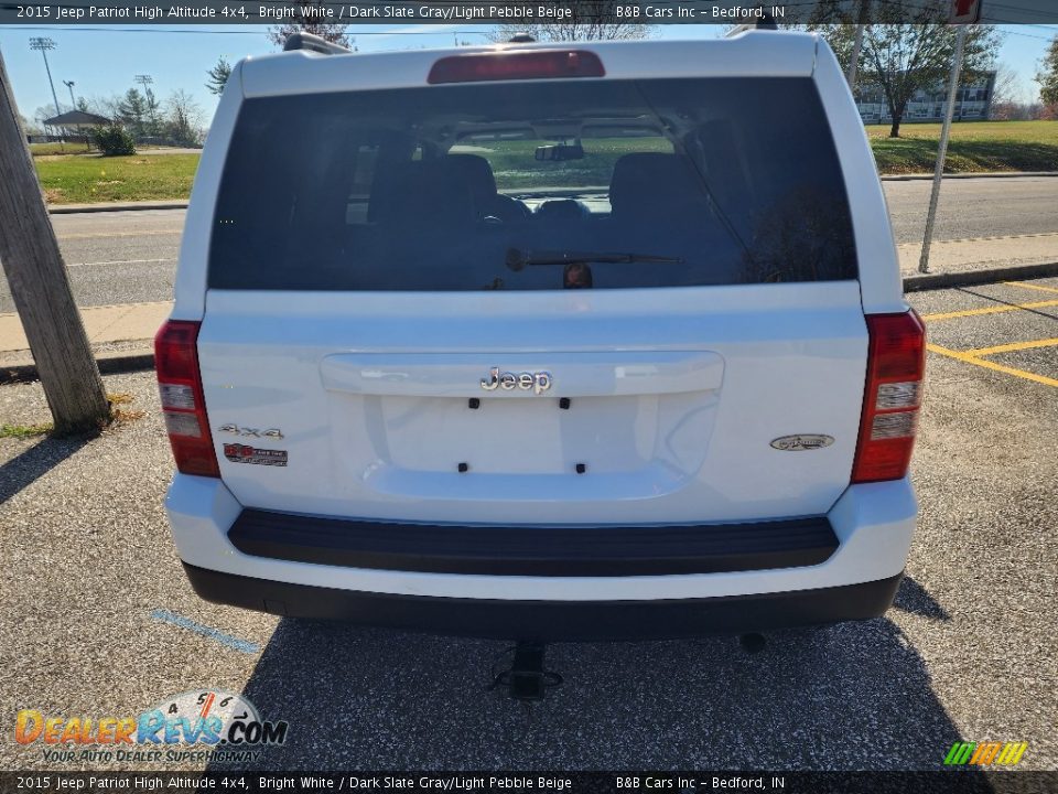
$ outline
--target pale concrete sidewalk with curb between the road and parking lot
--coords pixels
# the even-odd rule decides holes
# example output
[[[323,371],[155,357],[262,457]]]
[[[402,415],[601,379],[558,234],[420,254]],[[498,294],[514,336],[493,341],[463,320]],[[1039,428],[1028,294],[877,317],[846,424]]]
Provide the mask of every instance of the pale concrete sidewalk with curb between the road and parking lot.
[[[1058,234],[941,240],[930,247],[930,272],[918,272],[921,244],[897,246],[906,292],[1058,276]],[[126,303],[80,310],[102,372],[153,366],[153,339],[172,303]],[[18,314],[0,313],[0,383],[35,377]]]

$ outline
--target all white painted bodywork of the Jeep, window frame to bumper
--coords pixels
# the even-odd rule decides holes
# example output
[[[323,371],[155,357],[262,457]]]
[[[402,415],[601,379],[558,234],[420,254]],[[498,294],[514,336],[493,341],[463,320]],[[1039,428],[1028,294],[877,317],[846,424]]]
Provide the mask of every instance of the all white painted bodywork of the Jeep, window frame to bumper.
[[[909,479],[849,482],[863,403],[864,314],[907,304],[870,143],[836,60],[814,35],[575,47],[600,55],[606,77],[598,79],[811,77],[840,159],[859,280],[440,296],[207,289],[216,198],[245,99],[423,87],[440,57],[504,46],[295,52],[247,58],[233,69],[196,174],[172,312],[173,320],[202,321],[201,374],[222,472],[222,480],[177,474],[170,487],[165,504],[181,558],[296,584],[528,601],[778,593],[898,575],[917,512]],[[547,371],[553,384],[543,395],[487,394],[478,382],[490,366]],[[468,411],[472,397],[487,398],[489,410]],[[562,397],[575,404],[570,411],[555,409]],[[593,410],[577,412],[583,405]],[[501,411],[512,408],[529,434],[503,431],[510,423]],[[226,460],[224,444],[239,439],[219,432],[225,425],[281,429],[289,465]],[[770,447],[798,433],[834,440],[800,452]],[[581,453],[591,458],[590,475],[572,476],[569,465]],[[457,473],[463,460],[474,476]],[[530,527],[827,515],[840,546],[816,566],[701,575],[369,570],[245,555],[226,534],[244,507]]]

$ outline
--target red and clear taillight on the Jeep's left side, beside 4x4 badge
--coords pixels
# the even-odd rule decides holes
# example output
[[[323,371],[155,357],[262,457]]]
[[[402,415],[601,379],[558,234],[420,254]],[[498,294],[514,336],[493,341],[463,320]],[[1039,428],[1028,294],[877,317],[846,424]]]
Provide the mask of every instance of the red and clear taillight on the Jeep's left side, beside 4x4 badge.
[[[170,320],[154,336],[154,369],[169,442],[183,474],[220,476],[198,372],[198,325]]]

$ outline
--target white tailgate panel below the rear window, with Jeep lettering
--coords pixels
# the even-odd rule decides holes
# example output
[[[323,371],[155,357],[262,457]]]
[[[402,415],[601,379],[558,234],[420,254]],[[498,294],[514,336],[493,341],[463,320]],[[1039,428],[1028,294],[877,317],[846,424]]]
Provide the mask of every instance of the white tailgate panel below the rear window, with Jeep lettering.
[[[443,301],[216,291],[198,347],[222,476],[244,505],[666,523],[827,512],[849,483],[866,340],[856,283],[834,282]],[[485,391],[492,367],[551,386]],[[808,433],[834,441],[773,446]]]

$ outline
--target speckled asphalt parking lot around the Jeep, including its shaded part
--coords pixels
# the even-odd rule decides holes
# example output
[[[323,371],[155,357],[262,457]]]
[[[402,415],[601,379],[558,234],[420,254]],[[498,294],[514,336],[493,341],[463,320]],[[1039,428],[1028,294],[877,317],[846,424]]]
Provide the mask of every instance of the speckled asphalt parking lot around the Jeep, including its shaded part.
[[[12,739],[19,709],[134,716],[223,688],[290,722],[250,764],[271,769],[936,769],[958,739],[1025,741],[1021,768],[1055,769],[1058,279],[910,301],[931,352],[894,609],[754,655],[734,637],[555,645],[564,683],[530,711],[486,691],[505,643],[199,601],[162,512],[153,374],[108,377],[143,418],[0,439],[0,764],[57,766]],[[0,415],[45,420],[39,385],[0,387]]]

